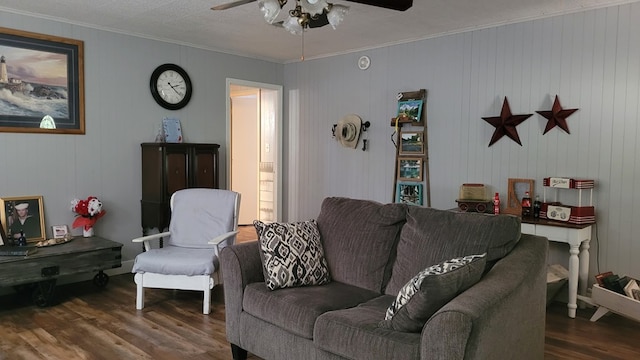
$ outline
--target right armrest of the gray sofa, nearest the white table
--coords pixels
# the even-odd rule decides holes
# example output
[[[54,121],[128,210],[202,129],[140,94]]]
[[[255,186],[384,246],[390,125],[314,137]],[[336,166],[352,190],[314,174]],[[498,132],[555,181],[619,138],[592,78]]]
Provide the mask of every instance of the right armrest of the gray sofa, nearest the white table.
[[[476,285],[422,330],[421,359],[542,359],[547,239],[522,234]]]

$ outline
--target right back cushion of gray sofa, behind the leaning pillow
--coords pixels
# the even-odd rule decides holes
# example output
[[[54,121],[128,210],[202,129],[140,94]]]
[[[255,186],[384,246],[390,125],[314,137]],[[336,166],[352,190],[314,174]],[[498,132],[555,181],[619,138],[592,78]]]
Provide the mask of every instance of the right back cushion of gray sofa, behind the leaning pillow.
[[[415,274],[447,259],[486,252],[487,264],[491,264],[519,240],[520,218],[516,216],[409,206],[385,293],[395,296]]]

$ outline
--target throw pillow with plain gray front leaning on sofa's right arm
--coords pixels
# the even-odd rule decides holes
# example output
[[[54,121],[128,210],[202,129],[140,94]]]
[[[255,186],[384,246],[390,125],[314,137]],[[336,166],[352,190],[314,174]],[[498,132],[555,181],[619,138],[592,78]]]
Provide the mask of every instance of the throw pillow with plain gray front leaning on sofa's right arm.
[[[486,255],[454,258],[422,270],[400,289],[379,326],[420,332],[431,315],[480,280]]]

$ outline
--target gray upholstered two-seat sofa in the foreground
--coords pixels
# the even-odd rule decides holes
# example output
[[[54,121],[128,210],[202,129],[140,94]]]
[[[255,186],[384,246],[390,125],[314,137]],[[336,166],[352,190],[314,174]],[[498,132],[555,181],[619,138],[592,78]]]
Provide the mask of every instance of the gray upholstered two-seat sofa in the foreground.
[[[331,276],[325,285],[271,291],[259,242],[221,252],[235,360],[247,351],[272,360],[544,357],[547,241],[521,235],[518,217],[327,198],[316,221]],[[480,253],[480,280],[425,318],[421,331],[383,326],[418,272]]]

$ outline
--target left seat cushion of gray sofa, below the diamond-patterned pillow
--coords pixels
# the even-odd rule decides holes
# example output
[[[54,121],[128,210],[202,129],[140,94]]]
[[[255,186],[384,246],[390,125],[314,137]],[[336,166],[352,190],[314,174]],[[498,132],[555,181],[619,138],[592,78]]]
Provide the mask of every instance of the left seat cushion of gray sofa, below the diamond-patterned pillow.
[[[318,316],[327,311],[357,306],[379,295],[336,281],[273,291],[267,289],[265,283],[251,283],[245,288],[242,307],[259,319],[311,339]]]

